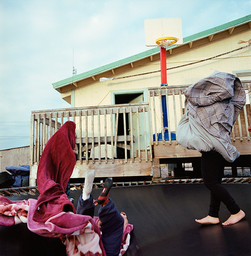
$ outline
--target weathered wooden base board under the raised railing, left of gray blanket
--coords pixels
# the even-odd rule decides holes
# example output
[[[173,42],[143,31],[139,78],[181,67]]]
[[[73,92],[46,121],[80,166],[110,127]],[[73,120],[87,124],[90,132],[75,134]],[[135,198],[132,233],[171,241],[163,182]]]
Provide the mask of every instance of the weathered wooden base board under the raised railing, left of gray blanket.
[[[154,145],[154,158],[183,158],[197,156],[201,156],[201,153],[197,150],[188,150],[180,144]]]

